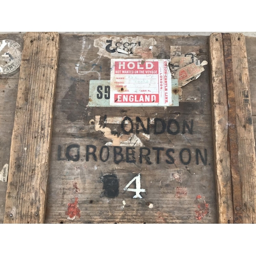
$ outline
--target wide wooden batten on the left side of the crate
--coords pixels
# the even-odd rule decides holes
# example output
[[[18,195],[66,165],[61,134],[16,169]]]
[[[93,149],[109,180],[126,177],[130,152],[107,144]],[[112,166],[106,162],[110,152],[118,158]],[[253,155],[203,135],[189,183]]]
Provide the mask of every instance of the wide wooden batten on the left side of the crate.
[[[58,55],[58,33],[25,34],[4,223],[45,220]]]

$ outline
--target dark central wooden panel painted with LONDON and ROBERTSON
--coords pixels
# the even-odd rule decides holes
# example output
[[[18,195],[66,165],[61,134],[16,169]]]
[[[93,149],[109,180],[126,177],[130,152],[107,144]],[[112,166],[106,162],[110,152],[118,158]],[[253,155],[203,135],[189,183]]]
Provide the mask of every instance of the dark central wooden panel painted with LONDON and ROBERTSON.
[[[101,37],[110,36],[60,35],[46,223],[216,223],[209,65],[197,80],[183,87],[179,107],[89,107],[90,80],[110,80],[111,57],[98,55],[99,49],[92,47]],[[196,52],[201,61],[209,60],[208,37],[166,36],[155,40],[156,58],[169,58],[170,45],[181,45],[184,53]],[[106,129],[102,130],[105,115]],[[133,122],[133,134],[138,138],[133,136],[135,144],[127,142],[132,133],[123,134],[124,117]],[[149,134],[143,134],[141,126],[136,132],[137,117],[145,127],[150,118]],[[156,118],[166,124],[163,133],[154,132]],[[160,131],[160,122],[156,126]],[[125,129],[129,131],[128,126]],[[123,160],[119,163],[114,161],[115,145],[111,143],[122,148]],[[96,147],[97,161],[89,154],[89,145]],[[105,162],[100,159],[103,146],[110,152]],[[127,147],[134,147],[135,162],[129,162],[134,160],[132,155],[127,159]],[[151,164],[144,157],[140,162],[141,147],[151,151],[146,158]],[[159,157],[153,147],[163,148]],[[146,152],[143,150],[143,154]],[[106,158],[103,154],[103,160]],[[135,199],[134,193],[123,188],[139,173],[146,193],[141,193],[142,199]],[[119,193],[114,197],[104,191],[102,177],[107,174],[118,179]]]

